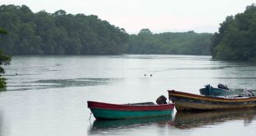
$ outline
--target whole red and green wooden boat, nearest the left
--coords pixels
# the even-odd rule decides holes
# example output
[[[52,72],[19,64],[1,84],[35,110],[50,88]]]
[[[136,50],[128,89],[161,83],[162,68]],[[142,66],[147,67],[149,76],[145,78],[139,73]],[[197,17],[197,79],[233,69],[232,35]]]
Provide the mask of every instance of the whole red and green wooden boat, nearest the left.
[[[115,120],[173,115],[174,104],[154,105],[153,102],[144,102],[118,105],[88,101],[88,108],[97,120]]]

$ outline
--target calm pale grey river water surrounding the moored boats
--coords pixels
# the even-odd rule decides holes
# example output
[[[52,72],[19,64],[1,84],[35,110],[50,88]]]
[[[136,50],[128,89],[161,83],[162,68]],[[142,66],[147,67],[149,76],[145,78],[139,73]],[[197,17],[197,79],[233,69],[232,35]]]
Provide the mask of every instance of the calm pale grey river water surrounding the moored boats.
[[[256,63],[184,55],[17,56],[5,68],[1,136],[255,135],[256,110],[175,110],[173,117],[96,121],[88,120],[87,101],[155,101],[168,89],[198,94],[220,82],[255,89]]]

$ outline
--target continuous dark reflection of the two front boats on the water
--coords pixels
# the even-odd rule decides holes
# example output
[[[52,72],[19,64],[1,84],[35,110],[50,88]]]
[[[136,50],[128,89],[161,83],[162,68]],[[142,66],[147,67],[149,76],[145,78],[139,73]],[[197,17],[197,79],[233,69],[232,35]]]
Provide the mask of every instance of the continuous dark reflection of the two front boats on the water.
[[[218,125],[232,120],[244,120],[249,126],[256,116],[256,110],[224,110],[206,112],[177,112],[173,117],[155,117],[134,120],[94,120],[89,134],[121,129],[136,129],[141,126],[168,126],[168,128],[196,129],[206,125]]]

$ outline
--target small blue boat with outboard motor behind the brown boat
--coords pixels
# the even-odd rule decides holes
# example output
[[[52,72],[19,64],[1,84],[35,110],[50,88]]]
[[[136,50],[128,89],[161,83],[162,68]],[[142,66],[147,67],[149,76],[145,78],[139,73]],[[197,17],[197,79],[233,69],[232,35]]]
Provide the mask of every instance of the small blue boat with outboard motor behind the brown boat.
[[[201,95],[205,96],[234,96],[236,94],[235,90],[230,90],[222,84],[219,84],[217,88],[211,87],[210,84],[208,84],[199,91]]]

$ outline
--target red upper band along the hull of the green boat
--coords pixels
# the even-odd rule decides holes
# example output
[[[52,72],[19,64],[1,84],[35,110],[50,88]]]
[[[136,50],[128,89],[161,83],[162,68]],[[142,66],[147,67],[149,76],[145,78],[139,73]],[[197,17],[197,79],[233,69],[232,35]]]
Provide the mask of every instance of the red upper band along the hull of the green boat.
[[[95,109],[106,109],[106,110],[173,110],[175,104],[165,104],[165,105],[117,105],[110,103],[103,103],[97,101],[88,101],[88,108]]]

